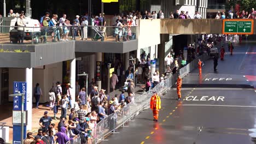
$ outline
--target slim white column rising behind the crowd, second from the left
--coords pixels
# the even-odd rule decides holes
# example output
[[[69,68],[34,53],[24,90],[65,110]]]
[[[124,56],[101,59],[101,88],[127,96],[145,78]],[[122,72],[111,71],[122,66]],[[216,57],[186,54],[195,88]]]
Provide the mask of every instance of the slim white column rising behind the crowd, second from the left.
[[[70,86],[72,87],[70,93],[72,100],[69,103],[71,103],[71,108],[73,108],[75,101],[75,58],[71,59],[70,67]]]

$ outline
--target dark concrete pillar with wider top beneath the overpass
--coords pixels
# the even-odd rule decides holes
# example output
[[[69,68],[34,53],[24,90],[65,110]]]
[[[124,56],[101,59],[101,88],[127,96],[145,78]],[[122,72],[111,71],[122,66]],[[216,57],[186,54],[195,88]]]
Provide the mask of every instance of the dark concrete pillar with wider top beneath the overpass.
[[[165,41],[169,40],[169,34],[160,34],[161,43],[158,45],[159,73],[165,73]]]

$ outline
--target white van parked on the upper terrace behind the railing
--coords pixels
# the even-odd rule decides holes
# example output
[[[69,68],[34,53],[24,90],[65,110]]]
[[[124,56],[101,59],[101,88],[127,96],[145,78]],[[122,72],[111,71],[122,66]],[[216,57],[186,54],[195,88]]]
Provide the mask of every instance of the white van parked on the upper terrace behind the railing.
[[[15,17],[10,22],[10,26],[15,26],[18,17]],[[26,23],[25,38],[24,40],[33,40],[34,43],[38,43],[39,37],[41,35],[40,31],[40,23],[38,20],[31,19],[30,17],[26,17],[24,19]],[[18,31],[14,27],[10,27],[10,43],[18,43]]]

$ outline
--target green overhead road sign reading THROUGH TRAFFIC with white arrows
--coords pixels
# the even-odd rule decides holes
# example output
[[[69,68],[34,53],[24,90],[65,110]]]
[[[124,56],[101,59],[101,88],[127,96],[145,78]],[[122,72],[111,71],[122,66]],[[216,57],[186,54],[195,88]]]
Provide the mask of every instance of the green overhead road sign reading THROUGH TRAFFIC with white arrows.
[[[223,20],[223,34],[253,34],[253,20]]]

